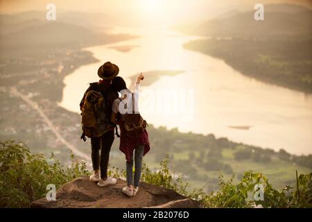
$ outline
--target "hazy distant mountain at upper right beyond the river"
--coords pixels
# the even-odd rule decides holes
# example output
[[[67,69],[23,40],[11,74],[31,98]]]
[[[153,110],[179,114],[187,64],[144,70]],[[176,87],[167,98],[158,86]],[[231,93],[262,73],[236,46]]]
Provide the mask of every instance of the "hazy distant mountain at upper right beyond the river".
[[[265,21],[255,21],[254,12],[229,12],[216,19],[182,31],[205,36],[270,37],[302,35],[311,37],[312,11],[302,6],[278,4],[265,6]]]

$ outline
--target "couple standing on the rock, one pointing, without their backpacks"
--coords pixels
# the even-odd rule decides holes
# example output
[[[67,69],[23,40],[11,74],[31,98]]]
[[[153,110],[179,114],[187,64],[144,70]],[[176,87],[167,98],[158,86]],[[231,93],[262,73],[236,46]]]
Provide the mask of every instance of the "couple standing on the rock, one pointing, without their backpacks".
[[[119,67],[111,62],[105,62],[104,65],[98,68],[98,76],[101,78],[97,83],[90,83],[89,88],[85,92],[82,101],[80,102],[80,110],[82,115],[84,105],[88,102],[88,93],[100,93],[103,96],[103,109],[100,114],[105,119],[101,124],[101,135],[91,137],[91,157],[94,173],[90,176],[90,180],[97,182],[99,187],[116,184],[116,178],[107,176],[107,167],[110,159],[110,149],[114,142],[114,128],[119,125],[121,129],[119,150],[125,154],[126,159],[126,179],[127,186],[123,187],[122,191],[128,196],[135,196],[139,191],[139,180],[141,177],[141,167],[143,156],[150,150],[148,141],[148,133],[146,129],[141,133],[129,136],[125,130],[123,118],[125,113],[131,113],[135,108],[137,111],[137,103],[139,99],[139,85],[144,76],[140,74],[135,83],[134,93],[127,88],[123,78],[117,76]],[[119,97],[121,94],[121,97]],[[135,98],[135,99],[133,99]],[[89,99],[90,100],[90,99]],[[90,102],[90,101],[89,101]],[[132,103],[133,102],[133,103]],[[94,108],[92,108],[94,110]],[[91,110],[91,109],[89,109]],[[134,113],[134,112],[133,112]],[[138,114],[138,112],[136,112]],[[95,116],[96,116],[95,115]],[[104,128],[104,130],[103,130]],[[116,135],[119,137],[116,128]],[[82,139],[85,140],[84,134]],[[101,153],[101,154],[100,154]],[[133,158],[133,153],[135,157]],[[135,175],[133,178],[133,159],[135,159]]]

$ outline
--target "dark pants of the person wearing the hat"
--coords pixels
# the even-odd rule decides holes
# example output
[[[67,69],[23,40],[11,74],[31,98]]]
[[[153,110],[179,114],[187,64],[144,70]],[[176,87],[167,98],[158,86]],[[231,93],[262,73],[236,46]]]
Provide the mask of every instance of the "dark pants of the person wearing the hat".
[[[114,130],[110,130],[102,137],[91,138],[91,158],[94,170],[101,169],[101,178],[107,178],[108,160],[110,160],[110,148],[114,142]],[[101,150],[101,157],[99,152]]]

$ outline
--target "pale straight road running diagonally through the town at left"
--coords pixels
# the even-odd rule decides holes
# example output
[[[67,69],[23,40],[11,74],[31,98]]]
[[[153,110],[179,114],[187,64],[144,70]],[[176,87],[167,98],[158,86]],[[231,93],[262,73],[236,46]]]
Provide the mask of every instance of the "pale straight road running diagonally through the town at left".
[[[55,126],[53,125],[52,121],[49,119],[49,117],[46,116],[46,114],[44,113],[44,111],[39,107],[39,105],[37,105],[37,103],[35,103],[34,101],[32,101],[31,99],[29,99],[27,96],[25,96],[24,94],[22,94],[21,92],[19,92],[17,90],[16,87],[11,87],[10,88],[11,93],[15,94],[16,96],[19,96],[19,98],[21,98],[23,101],[25,101],[25,103],[27,103],[28,105],[31,106],[31,108],[33,108],[34,110],[36,110],[38,112],[38,114],[40,114],[40,117],[42,117],[42,119],[44,120],[44,122],[49,126],[49,128],[51,129],[51,131],[53,132],[53,134],[55,135],[55,137],[62,143],[64,144],[64,146],[66,146],[67,148],[69,148],[69,150],[71,150],[73,152],[73,155],[79,156],[81,158],[83,158],[83,160],[86,161],[90,161],[91,158],[89,157],[89,155],[79,151],[76,147],[74,147],[73,145],[69,144],[69,142],[67,142],[66,139],[64,139],[64,137],[62,137],[62,135],[58,132],[58,130],[55,128]]]

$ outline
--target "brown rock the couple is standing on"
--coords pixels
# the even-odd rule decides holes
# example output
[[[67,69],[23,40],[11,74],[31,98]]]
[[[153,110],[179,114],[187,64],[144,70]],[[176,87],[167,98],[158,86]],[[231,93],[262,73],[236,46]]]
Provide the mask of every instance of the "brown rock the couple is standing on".
[[[101,208],[138,208],[138,207],[200,207],[200,203],[177,194],[172,189],[157,187],[145,182],[140,183],[136,196],[126,196],[121,189],[124,180],[118,179],[116,185],[98,187],[87,176],[76,178],[63,185],[56,192],[56,200],[41,198],[31,203],[31,207],[101,207]]]

